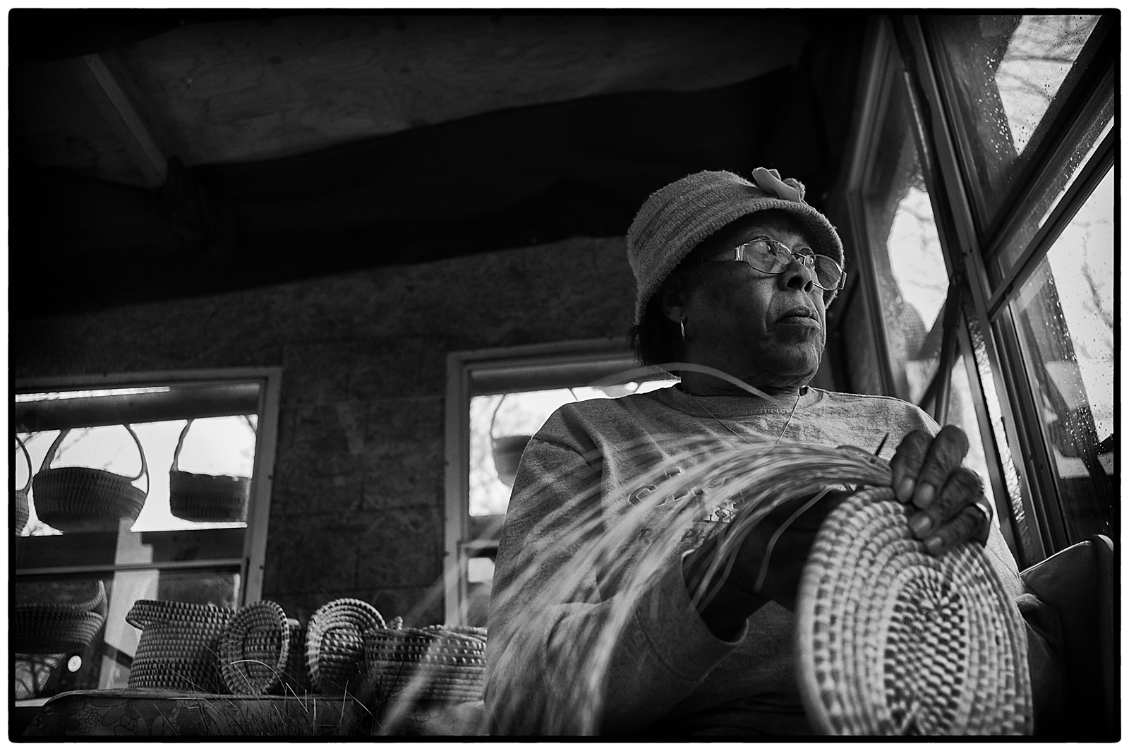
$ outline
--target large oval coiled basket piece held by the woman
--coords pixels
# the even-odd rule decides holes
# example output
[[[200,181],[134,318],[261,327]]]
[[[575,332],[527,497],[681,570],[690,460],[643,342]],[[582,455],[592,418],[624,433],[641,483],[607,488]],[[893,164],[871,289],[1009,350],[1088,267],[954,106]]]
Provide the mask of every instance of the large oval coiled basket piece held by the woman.
[[[1024,623],[977,543],[940,557],[889,488],[856,494],[816,536],[796,605],[807,716],[840,735],[1032,731]]]

